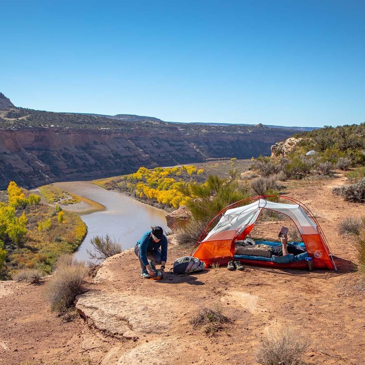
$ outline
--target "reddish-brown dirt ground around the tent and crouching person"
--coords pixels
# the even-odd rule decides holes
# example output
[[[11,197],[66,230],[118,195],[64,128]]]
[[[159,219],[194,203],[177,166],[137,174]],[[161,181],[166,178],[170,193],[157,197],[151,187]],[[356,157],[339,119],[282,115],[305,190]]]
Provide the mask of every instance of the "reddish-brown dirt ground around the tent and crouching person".
[[[338,223],[347,215],[364,215],[364,205],[331,193],[343,183],[343,177],[297,181],[285,189],[314,213],[335,255],[337,272],[258,266],[231,272],[219,267],[182,277],[167,273],[164,280],[152,281],[140,278],[137,258],[126,251],[106,260],[96,280],[89,278],[88,293],[115,300],[130,296],[128,311],[119,304],[112,308],[120,312],[120,321],[140,314],[138,338],[130,339],[90,319],[58,318],[43,300],[44,284],[0,282],[0,364],[254,365],[260,339],[279,323],[297,329],[310,342],[303,357],[308,364],[365,364],[365,284],[354,270],[353,240],[338,235]],[[262,224],[260,234],[275,237],[280,225]],[[175,258],[188,254],[169,237],[167,269]],[[217,304],[231,323],[215,335],[192,331],[189,320],[199,308]],[[143,308],[148,313],[150,307],[157,308],[154,318],[143,318]]]

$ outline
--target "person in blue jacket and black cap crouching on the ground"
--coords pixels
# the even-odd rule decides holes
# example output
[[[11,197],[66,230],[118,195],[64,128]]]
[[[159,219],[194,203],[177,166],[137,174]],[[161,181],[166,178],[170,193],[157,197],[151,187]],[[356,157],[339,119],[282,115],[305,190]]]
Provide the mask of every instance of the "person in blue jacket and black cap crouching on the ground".
[[[167,238],[164,230],[158,226],[151,228],[152,230],[144,233],[134,247],[134,253],[141,263],[143,278],[149,278],[154,274],[155,265],[161,265],[164,272],[167,260]]]

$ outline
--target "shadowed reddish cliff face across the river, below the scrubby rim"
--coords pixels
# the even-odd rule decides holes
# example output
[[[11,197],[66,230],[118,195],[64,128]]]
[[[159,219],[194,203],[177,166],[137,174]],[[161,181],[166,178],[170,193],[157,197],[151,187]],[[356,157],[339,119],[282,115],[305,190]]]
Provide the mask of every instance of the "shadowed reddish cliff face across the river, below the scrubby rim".
[[[268,155],[274,142],[292,134],[272,128],[228,127],[195,126],[192,133],[172,123],[164,130],[136,124],[127,130],[0,129],[0,189],[7,188],[11,180],[32,188],[55,181],[127,174],[140,166]]]

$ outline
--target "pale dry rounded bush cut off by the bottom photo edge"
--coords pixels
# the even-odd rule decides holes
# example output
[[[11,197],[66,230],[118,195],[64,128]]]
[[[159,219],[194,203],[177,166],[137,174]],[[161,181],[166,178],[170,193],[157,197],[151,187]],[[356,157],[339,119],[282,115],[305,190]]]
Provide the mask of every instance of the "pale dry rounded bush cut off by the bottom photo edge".
[[[278,326],[262,339],[255,360],[262,365],[300,365],[309,342],[291,327]]]

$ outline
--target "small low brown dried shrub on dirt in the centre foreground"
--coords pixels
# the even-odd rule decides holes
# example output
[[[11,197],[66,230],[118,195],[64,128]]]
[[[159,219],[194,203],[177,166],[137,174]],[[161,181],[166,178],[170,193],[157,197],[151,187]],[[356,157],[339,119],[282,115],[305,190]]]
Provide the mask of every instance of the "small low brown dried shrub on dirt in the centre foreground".
[[[201,308],[198,314],[190,320],[192,330],[201,327],[206,334],[213,334],[222,328],[222,324],[230,322],[231,320],[222,314],[222,307],[218,305],[214,310]]]

